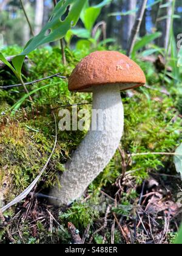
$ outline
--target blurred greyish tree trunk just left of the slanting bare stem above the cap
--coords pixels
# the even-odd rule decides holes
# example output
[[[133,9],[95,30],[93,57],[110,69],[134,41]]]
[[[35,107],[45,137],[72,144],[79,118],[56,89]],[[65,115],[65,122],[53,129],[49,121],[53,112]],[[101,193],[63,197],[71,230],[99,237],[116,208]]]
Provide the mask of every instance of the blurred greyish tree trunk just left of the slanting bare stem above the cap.
[[[136,9],[136,0],[124,0],[124,9],[126,11],[135,10]],[[135,23],[136,13],[131,13],[124,17],[123,24],[123,38],[122,38],[122,46],[123,49],[127,49],[127,42],[129,40],[133,24]]]

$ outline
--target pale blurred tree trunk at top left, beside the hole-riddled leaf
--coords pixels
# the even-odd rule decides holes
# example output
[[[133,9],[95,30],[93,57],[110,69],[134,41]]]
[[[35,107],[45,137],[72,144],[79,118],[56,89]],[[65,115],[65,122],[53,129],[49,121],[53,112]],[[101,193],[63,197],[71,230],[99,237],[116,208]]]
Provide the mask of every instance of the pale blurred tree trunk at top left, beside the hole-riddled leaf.
[[[35,35],[42,29],[44,19],[44,0],[36,0],[35,4]]]

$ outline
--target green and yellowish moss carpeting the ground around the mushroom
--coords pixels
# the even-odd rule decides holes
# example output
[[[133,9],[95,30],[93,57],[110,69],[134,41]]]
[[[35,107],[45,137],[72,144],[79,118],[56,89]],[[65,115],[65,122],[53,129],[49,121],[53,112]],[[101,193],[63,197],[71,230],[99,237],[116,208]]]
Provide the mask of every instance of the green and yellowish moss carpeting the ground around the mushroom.
[[[16,54],[19,49],[8,48],[7,55]],[[30,74],[24,77],[25,81],[31,81],[38,77],[49,76],[50,74],[61,73],[69,76],[72,69],[86,52],[72,52],[66,49],[67,66],[61,64],[60,51],[58,49],[39,49],[30,54]],[[174,152],[182,140],[181,118],[178,117],[178,110],[181,112],[181,104],[178,102],[178,110],[174,98],[161,92],[159,76],[150,63],[140,63],[147,74],[147,82],[154,85],[155,90],[140,88],[132,91],[130,97],[123,94],[124,102],[124,135],[121,140],[121,147],[124,149],[128,161],[126,171],[134,171],[136,181],[140,183],[150,171],[157,170],[172,174],[174,169],[173,159],[163,155],[150,155],[128,157],[135,152]],[[3,78],[3,77],[2,77]],[[12,80],[5,81],[13,84]],[[15,81],[14,81],[15,82]],[[0,91],[0,201],[9,202],[15,195],[26,188],[39,174],[47,158],[52,152],[55,141],[55,120],[51,108],[58,105],[68,105],[81,102],[92,102],[92,95],[82,93],[70,93],[67,89],[67,80],[59,77],[45,80],[39,84],[29,87],[33,90],[43,85],[51,86],[33,94],[33,110],[28,100],[24,101],[21,109],[11,116],[7,112],[23,95],[21,88],[11,91]],[[1,81],[1,84],[4,84]],[[175,96],[174,96],[175,97]],[[71,107],[68,107],[70,110]],[[83,108],[81,106],[80,108]],[[89,105],[84,108],[90,109]],[[79,109],[79,108],[78,108]],[[55,111],[57,122],[59,121],[58,111]],[[5,113],[2,113],[5,112]],[[56,173],[63,171],[63,164],[76,149],[86,132],[58,132],[58,143],[49,166],[41,178],[38,186],[41,189],[48,189],[53,186],[56,180]],[[136,170],[136,171],[135,171]],[[90,199],[86,202],[75,202],[72,207],[59,214],[59,221],[66,227],[67,221],[73,221],[81,232],[84,232],[87,224],[94,224],[99,218],[104,218],[106,205],[98,196],[102,189],[110,196],[115,196],[113,184],[122,172],[121,155],[116,152],[106,169],[89,186],[88,194]],[[6,183],[6,186],[5,186]],[[39,185],[40,184],[40,185]],[[130,199],[127,199],[132,204]],[[104,202],[106,204],[106,202]],[[122,203],[122,202],[121,202]],[[95,205],[95,207],[93,207]],[[100,209],[98,207],[104,208]],[[121,204],[122,205],[122,204]],[[12,210],[15,215],[16,208]],[[13,225],[13,224],[12,224]],[[92,226],[92,225],[91,225]],[[22,229],[22,236],[25,243],[70,243],[68,233],[60,229],[52,233],[41,224],[36,222],[36,232],[33,234],[29,221],[25,222]],[[106,230],[107,240],[110,241],[110,230]],[[116,232],[116,243],[120,243],[119,232]],[[0,232],[0,241],[4,243],[5,231]],[[2,238],[2,239],[1,239]],[[15,243],[22,243],[16,233],[13,236]],[[102,241],[100,234],[95,237],[95,242]]]

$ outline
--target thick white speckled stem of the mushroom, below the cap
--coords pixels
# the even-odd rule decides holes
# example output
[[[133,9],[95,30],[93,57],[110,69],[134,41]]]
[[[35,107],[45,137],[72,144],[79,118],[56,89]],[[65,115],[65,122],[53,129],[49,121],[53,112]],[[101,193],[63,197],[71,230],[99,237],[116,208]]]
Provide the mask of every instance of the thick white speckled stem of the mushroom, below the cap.
[[[102,110],[104,129],[96,125],[97,129],[92,130],[98,123],[98,118],[92,118],[91,129],[73,153],[72,160],[66,163],[66,171],[59,177],[59,186],[51,192],[51,196],[60,200],[53,201],[53,204],[70,204],[81,197],[110,162],[120,144],[124,112],[119,85],[93,88],[93,110]]]

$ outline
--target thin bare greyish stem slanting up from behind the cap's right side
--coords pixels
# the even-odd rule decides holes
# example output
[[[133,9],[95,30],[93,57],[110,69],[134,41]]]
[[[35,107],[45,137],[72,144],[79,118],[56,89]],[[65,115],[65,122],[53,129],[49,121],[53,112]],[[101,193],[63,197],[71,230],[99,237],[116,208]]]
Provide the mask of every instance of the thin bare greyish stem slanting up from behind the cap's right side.
[[[136,37],[138,35],[138,32],[140,31],[140,26],[141,26],[141,22],[143,20],[144,12],[146,10],[146,5],[147,5],[147,0],[141,1],[141,6],[138,11],[138,15],[136,17],[136,21],[135,21],[135,24],[132,29],[132,33],[130,35],[129,44],[128,44],[128,48],[127,48],[127,56],[131,55],[133,48],[135,46]]]

